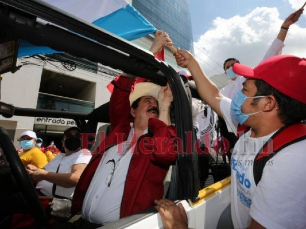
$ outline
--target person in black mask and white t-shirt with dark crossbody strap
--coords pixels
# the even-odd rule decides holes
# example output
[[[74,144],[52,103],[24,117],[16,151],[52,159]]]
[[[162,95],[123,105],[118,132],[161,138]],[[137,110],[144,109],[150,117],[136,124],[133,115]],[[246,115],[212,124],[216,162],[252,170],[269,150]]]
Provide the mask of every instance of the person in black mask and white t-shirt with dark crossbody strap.
[[[26,169],[32,181],[38,182],[36,189],[41,195],[67,200],[68,207],[65,214],[58,216],[69,217],[74,189],[91,159],[91,153],[81,148],[81,134],[78,127],[70,127],[65,130],[62,145],[65,153],[56,156],[44,169],[34,165],[28,165]],[[56,206],[57,203],[53,199],[51,214],[57,214],[54,208],[60,210]]]

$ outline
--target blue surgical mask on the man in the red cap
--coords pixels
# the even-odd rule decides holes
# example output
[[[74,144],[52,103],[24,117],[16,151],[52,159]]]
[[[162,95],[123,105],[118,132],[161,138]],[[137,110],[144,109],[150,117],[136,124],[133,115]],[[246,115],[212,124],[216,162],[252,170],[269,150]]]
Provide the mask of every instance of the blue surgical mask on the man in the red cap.
[[[251,114],[245,114],[241,112],[241,106],[244,103],[244,101],[247,98],[263,98],[266,97],[266,95],[259,95],[259,96],[252,96],[252,97],[247,97],[242,93],[242,91],[238,91],[234,98],[232,99],[231,105],[230,105],[230,113],[232,114],[233,118],[239,122],[240,125],[242,125],[249,116],[263,112],[263,111],[258,111],[254,112]]]

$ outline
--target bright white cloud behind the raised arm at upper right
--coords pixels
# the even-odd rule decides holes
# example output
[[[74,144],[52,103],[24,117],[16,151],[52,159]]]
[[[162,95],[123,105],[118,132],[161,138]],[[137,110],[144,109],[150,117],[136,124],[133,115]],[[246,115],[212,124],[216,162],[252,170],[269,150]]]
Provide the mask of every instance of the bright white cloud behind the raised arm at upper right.
[[[213,27],[202,34],[194,45],[207,53],[222,67],[215,64],[207,55],[195,48],[195,54],[208,76],[217,74],[216,70],[203,63],[209,63],[223,72],[225,59],[235,57],[241,63],[256,66],[277,37],[282,20],[277,8],[258,7],[245,16],[229,19],[217,17]],[[285,40],[282,54],[306,56],[306,28],[292,25]],[[202,60],[200,60],[202,59]]]

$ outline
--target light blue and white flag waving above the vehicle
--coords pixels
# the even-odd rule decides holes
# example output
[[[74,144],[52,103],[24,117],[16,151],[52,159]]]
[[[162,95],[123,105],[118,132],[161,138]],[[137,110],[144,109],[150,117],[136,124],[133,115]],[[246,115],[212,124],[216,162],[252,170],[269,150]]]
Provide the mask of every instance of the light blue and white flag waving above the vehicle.
[[[129,41],[155,33],[156,28],[125,0],[43,0]],[[21,41],[18,57],[57,51]]]

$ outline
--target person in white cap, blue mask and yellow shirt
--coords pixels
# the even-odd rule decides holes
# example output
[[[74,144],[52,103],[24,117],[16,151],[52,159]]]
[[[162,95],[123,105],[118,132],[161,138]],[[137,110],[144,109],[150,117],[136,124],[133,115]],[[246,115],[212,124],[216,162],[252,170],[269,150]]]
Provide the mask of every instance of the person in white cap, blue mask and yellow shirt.
[[[34,165],[37,168],[43,168],[48,162],[46,155],[35,145],[36,134],[33,131],[24,131],[18,141],[22,152],[19,153],[20,159],[24,166]]]

